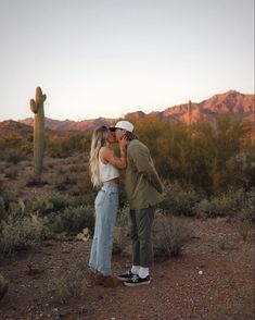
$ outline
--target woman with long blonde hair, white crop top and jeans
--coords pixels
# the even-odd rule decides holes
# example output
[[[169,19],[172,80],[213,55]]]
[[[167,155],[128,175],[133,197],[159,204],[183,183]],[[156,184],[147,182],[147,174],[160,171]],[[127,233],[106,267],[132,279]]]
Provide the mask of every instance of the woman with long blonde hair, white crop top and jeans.
[[[89,267],[94,274],[94,284],[109,287],[118,284],[118,280],[111,276],[111,259],[118,209],[119,169],[126,169],[127,165],[127,140],[119,141],[120,158],[110,148],[115,143],[115,133],[101,126],[93,132],[90,150],[91,181],[100,190],[94,201],[95,227]]]

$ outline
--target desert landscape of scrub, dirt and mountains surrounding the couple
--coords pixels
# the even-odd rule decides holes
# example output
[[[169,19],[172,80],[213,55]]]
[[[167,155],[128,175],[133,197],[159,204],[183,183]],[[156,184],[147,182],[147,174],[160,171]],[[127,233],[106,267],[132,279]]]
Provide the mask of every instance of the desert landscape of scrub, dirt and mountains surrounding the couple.
[[[91,130],[116,120],[46,119],[40,175],[33,123],[0,123],[0,319],[254,319],[254,96],[230,90],[192,107],[191,126],[187,104],[126,116],[166,193],[152,282],[140,287],[95,286],[88,270]],[[130,268],[128,224],[122,184],[114,275]]]

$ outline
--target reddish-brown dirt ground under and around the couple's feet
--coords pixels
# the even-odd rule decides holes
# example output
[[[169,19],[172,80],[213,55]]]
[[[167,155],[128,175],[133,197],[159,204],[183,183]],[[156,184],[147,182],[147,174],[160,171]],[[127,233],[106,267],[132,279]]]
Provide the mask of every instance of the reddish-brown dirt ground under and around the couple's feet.
[[[48,241],[33,256],[1,260],[10,288],[0,301],[0,319],[254,319],[253,225],[245,226],[243,241],[240,226],[225,219],[187,220],[192,239],[182,256],[155,262],[150,285],[93,286],[85,272],[82,296],[55,301],[49,280],[77,259],[88,261],[91,242],[72,237]],[[113,256],[114,274],[129,267],[129,257]]]

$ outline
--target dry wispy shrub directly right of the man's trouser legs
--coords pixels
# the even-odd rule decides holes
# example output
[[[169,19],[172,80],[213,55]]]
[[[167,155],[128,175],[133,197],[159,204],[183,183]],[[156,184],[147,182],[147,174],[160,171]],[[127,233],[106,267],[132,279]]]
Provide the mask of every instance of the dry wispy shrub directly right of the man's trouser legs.
[[[154,256],[161,260],[179,256],[191,237],[190,229],[182,219],[162,213],[155,218],[152,234]]]

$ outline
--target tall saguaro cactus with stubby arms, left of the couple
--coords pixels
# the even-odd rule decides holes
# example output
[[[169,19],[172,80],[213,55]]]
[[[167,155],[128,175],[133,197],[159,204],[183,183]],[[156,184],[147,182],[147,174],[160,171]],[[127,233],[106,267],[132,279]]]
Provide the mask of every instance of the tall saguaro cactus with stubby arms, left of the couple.
[[[34,162],[35,172],[40,175],[43,165],[44,153],[44,111],[43,102],[46,95],[42,95],[41,88],[36,88],[36,100],[30,99],[30,109],[35,113],[34,120]]]

